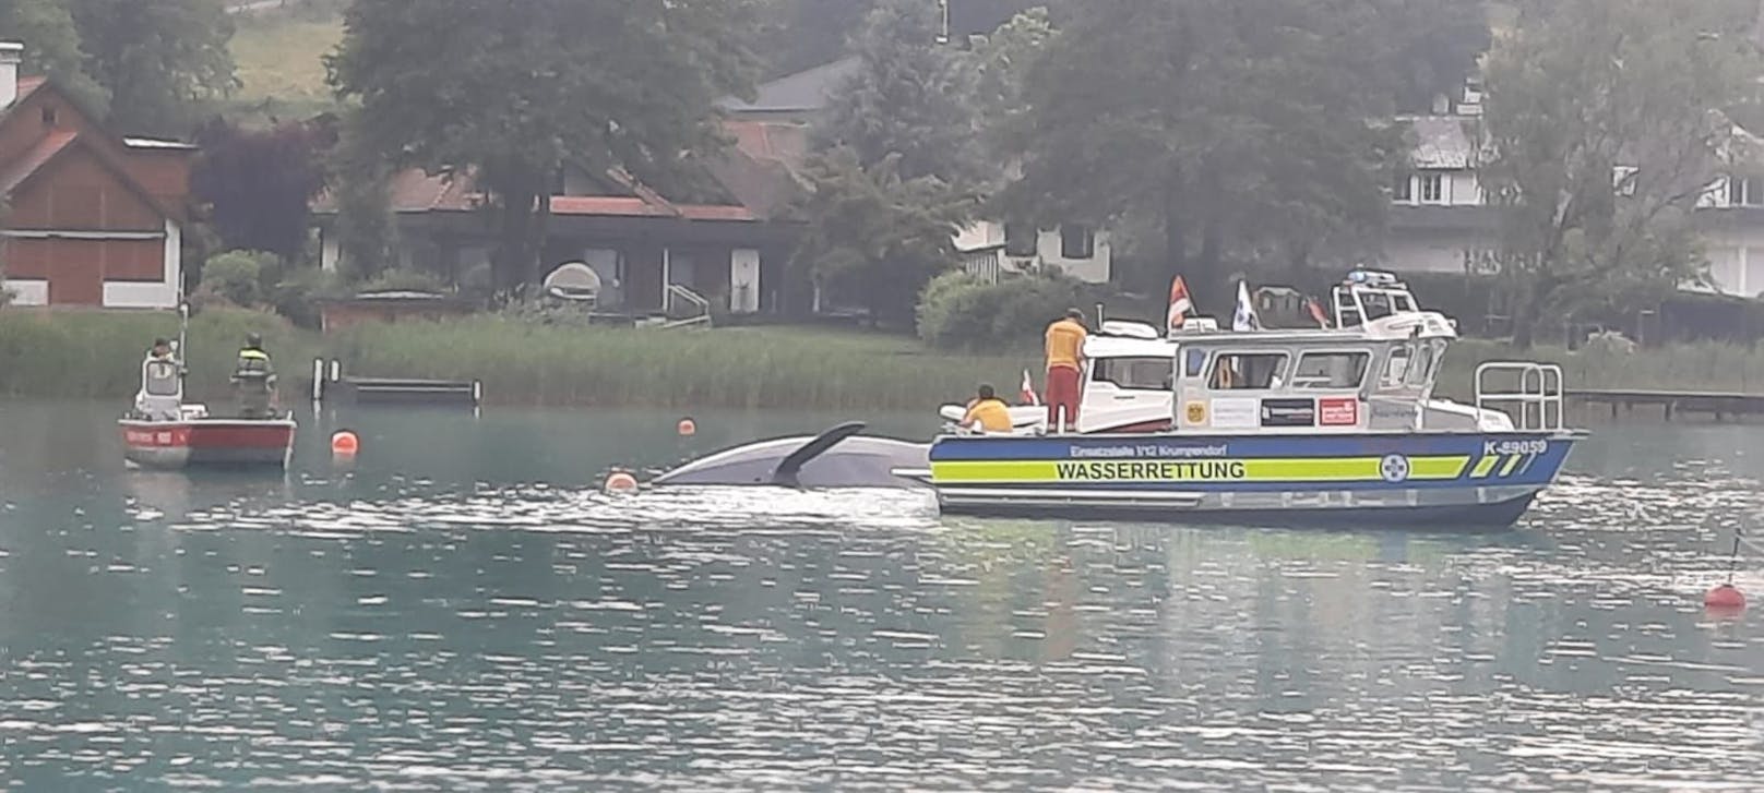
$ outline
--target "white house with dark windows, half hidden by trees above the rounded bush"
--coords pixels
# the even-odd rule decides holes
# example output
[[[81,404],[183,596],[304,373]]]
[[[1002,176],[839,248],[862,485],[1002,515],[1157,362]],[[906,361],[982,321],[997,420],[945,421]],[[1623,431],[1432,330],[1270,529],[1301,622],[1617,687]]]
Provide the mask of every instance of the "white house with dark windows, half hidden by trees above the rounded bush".
[[[981,278],[1007,273],[1064,273],[1088,284],[1106,284],[1113,252],[1108,231],[1083,224],[1035,229],[1028,224],[975,222],[954,238],[961,266]]]

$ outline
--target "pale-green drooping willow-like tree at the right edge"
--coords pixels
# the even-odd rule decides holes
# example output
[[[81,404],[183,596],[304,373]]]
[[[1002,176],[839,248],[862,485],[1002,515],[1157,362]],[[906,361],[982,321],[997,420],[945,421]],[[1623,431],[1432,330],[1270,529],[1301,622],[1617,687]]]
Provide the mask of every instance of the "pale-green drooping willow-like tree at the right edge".
[[[1693,211],[1745,157],[1723,113],[1764,72],[1750,0],[1521,7],[1487,69],[1484,189],[1499,208],[1514,340],[1633,308],[1704,270]]]

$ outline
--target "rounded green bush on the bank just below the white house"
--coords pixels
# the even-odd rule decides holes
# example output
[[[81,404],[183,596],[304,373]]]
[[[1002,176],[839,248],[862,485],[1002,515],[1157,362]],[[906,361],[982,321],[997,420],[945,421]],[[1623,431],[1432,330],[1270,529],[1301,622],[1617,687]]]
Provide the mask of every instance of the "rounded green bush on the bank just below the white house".
[[[940,349],[1023,349],[1041,342],[1048,322],[1090,303],[1088,287],[1053,275],[1023,275],[997,284],[944,273],[919,300],[919,338]]]

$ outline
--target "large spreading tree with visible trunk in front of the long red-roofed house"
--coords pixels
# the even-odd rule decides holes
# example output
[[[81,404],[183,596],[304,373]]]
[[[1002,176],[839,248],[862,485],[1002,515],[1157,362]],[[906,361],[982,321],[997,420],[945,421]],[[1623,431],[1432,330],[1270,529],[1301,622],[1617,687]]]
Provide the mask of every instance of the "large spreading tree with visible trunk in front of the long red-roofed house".
[[[688,180],[725,141],[713,113],[751,95],[750,0],[356,0],[328,58],[363,145],[397,166],[469,174],[501,236],[501,293],[538,280],[564,164]]]

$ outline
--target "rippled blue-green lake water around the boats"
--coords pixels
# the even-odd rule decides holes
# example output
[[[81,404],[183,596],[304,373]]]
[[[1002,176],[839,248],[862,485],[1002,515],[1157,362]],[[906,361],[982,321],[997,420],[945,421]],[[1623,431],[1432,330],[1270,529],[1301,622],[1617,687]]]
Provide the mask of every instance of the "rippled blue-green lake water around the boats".
[[[0,402],[4,789],[1764,786],[1764,611],[1700,604],[1757,426],[1603,428],[1452,536],[596,492],[836,416],[363,411],[286,478],[125,472],[116,407]]]

